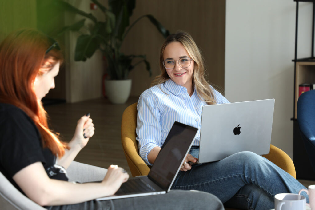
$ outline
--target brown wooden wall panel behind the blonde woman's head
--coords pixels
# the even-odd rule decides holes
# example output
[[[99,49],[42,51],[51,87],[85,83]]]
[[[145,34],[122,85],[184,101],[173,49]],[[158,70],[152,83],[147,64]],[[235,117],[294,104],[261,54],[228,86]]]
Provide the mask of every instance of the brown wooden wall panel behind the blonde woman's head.
[[[143,14],[152,14],[171,33],[177,30],[189,32],[203,52],[209,81],[223,90],[225,1],[138,0],[130,22]],[[140,20],[125,38],[122,51],[125,54],[146,54],[153,73],[149,77],[144,64],[132,70],[129,75],[133,80],[132,96],[139,96],[149,88],[154,76],[160,73],[158,58],[163,41],[162,35],[147,19]]]

